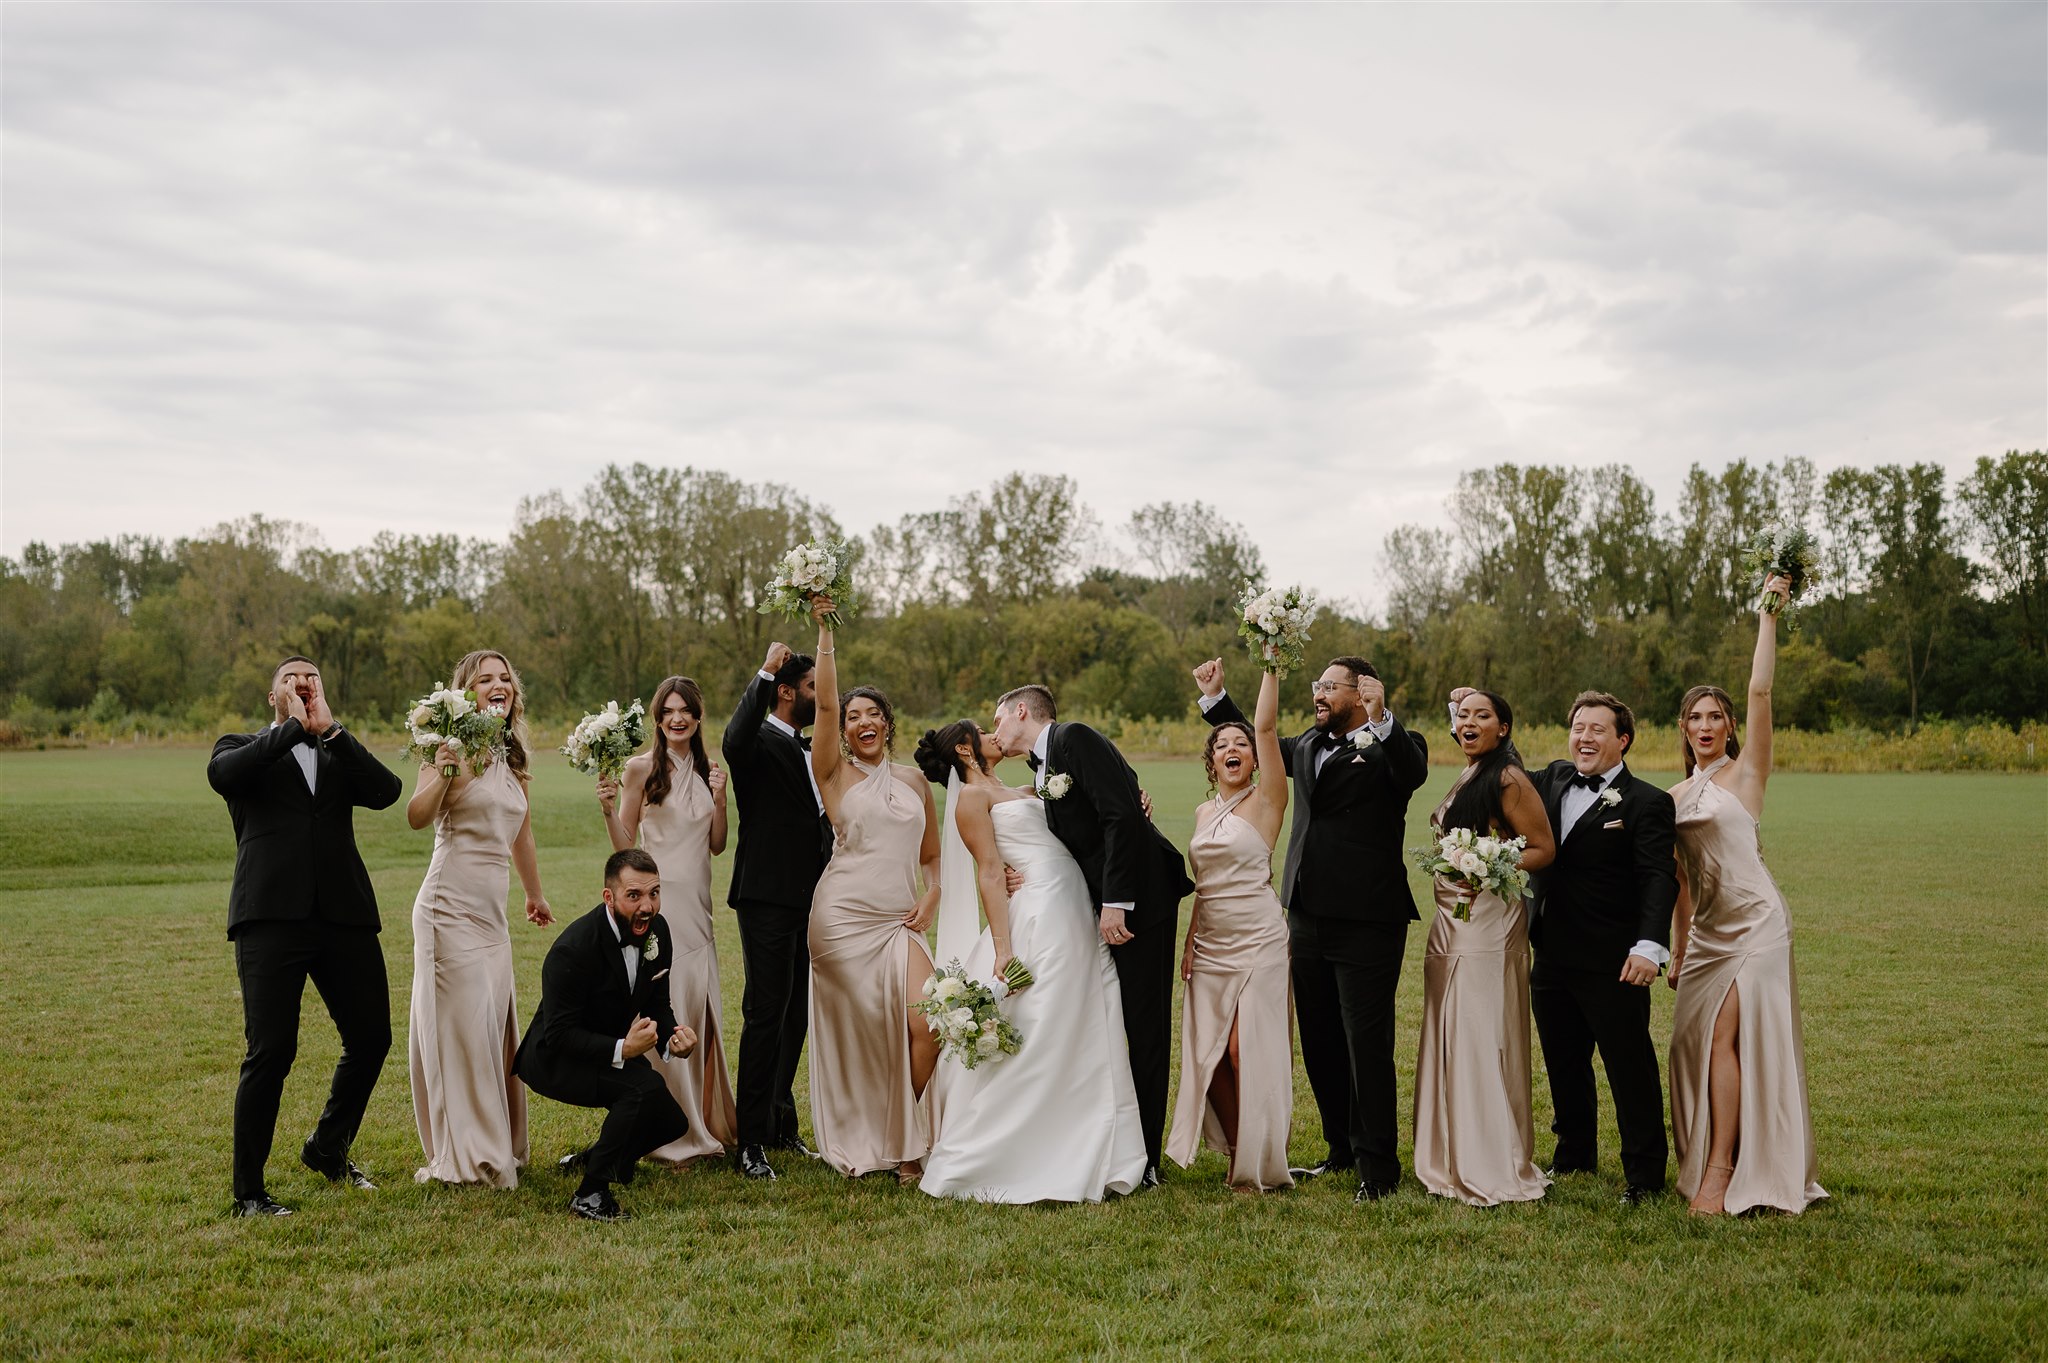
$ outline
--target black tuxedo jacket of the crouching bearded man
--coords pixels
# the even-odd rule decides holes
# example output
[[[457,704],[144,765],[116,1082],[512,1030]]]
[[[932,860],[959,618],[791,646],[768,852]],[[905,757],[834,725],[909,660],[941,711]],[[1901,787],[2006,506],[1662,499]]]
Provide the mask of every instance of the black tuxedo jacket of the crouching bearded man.
[[[541,962],[541,1007],[512,1056],[512,1070],[530,1087],[563,1101],[582,1095],[584,1105],[600,1105],[598,1079],[612,1072],[612,1048],[635,1017],[653,1019],[662,1046],[676,1031],[668,1001],[668,972],[676,964],[668,919],[653,915],[633,984],[627,984],[625,954],[608,919],[610,909],[598,905],[555,937]]]

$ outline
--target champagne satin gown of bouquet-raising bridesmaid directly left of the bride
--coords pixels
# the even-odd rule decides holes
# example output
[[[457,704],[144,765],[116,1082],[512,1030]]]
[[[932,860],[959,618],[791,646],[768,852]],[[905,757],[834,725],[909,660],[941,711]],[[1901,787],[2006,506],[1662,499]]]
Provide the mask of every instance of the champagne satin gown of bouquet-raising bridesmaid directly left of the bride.
[[[856,767],[860,763],[854,763]],[[922,1160],[930,1122],[909,1068],[909,982],[930,974],[918,903],[924,800],[883,765],[840,798],[831,862],[811,896],[811,1130],[844,1175]]]

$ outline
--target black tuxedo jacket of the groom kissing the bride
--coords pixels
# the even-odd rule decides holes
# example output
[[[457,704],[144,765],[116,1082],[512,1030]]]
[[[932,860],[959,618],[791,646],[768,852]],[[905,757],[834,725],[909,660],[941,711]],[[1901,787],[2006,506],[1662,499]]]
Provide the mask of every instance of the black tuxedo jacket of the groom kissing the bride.
[[[1102,905],[1130,905],[1130,931],[1171,923],[1194,890],[1186,862],[1139,802],[1139,774],[1116,745],[1087,724],[1051,724],[1049,774],[1073,778],[1067,794],[1044,802],[1053,837],[1081,864],[1087,892]]]

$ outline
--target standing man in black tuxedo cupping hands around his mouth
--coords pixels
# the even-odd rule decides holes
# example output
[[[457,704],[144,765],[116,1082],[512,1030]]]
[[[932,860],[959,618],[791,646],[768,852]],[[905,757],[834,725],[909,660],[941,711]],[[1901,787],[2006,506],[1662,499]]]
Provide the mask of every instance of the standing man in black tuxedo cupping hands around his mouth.
[[[319,667],[287,657],[270,673],[274,718],[213,745],[207,784],[236,825],[227,937],[242,980],[242,1083],[236,1087],[236,1216],[291,1216],[270,1197],[264,1164],[285,1074],[299,1052],[299,1001],[313,980],[342,1060],[299,1160],[334,1183],[369,1189],[348,1158],[362,1109],[391,1050],[391,986],[377,933],[377,892],[356,851],[354,808],[389,808],[399,778],[334,722]]]

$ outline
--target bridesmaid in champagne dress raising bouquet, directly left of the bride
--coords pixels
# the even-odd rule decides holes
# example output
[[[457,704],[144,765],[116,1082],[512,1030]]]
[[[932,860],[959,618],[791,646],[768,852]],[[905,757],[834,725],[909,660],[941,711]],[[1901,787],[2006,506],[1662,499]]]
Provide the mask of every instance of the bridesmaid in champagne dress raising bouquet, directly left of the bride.
[[[924,776],[889,761],[889,700],[866,686],[840,694],[829,610],[825,598],[813,610],[811,776],[834,845],[811,896],[811,1132],[846,1177],[893,1169],[913,1183],[932,1144],[922,1099],[938,1064],[938,1040],[911,1007],[932,978],[938,819]]]

